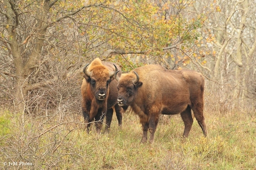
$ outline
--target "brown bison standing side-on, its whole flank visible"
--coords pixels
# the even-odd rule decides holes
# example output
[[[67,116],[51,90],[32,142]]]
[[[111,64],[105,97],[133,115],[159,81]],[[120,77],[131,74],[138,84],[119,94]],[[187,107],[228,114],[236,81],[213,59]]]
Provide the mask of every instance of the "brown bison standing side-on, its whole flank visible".
[[[183,136],[188,137],[194,116],[198,121],[204,136],[207,135],[204,109],[204,78],[192,70],[166,70],[160,65],[146,65],[122,74],[118,80],[120,106],[131,106],[139,115],[142,124],[142,140],[147,141],[147,131],[150,132],[150,142],[154,141],[154,133],[160,114],[181,114],[185,129]]]

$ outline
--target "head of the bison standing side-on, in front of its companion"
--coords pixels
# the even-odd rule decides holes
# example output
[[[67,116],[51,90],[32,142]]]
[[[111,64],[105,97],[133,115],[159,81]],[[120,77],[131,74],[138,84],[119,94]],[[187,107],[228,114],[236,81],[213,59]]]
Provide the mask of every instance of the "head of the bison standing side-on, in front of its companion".
[[[142,82],[139,81],[139,75],[132,71],[129,74],[122,74],[120,78],[115,74],[115,79],[118,81],[117,102],[119,106],[130,106],[135,99],[137,88],[142,85]]]

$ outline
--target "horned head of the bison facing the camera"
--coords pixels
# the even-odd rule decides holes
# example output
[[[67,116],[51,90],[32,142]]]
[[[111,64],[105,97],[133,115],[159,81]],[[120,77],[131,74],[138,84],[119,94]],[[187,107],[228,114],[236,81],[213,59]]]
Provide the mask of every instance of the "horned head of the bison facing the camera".
[[[109,95],[109,84],[115,79],[114,75],[117,71],[115,66],[115,71],[109,71],[104,65],[95,65],[87,70],[87,64],[83,68],[84,77],[88,84],[90,84],[90,90],[95,96],[97,101],[104,101]]]

